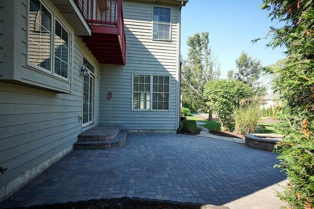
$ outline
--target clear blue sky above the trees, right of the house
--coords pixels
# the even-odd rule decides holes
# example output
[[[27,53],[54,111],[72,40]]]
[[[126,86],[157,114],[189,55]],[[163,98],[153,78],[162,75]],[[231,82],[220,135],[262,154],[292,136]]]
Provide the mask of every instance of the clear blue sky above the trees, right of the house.
[[[262,65],[274,64],[284,58],[283,48],[266,48],[270,40],[251,43],[264,37],[269,26],[276,26],[262,10],[262,0],[189,0],[182,9],[181,53],[187,57],[186,40],[197,32],[209,32],[209,45],[221,63],[221,76],[235,69],[241,52],[261,60]]]

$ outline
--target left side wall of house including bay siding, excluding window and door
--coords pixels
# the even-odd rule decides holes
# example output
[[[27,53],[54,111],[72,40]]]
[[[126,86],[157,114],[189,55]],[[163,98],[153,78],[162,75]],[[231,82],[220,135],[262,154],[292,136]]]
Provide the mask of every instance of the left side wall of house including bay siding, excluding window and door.
[[[94,124],[82,128],[79,119],[83,57],[95,67],[95,78],[99,76],[99,63],[52,2],[45,2],[71,34],[68,81],[27,64],[28,0],[0,0],[0,166],[7,168],[0,174],[0,201],[68,154],[78,134],[96,126],[99,120],[98,79],[94,89]],[[3,79],[3,75],[7,77]]]

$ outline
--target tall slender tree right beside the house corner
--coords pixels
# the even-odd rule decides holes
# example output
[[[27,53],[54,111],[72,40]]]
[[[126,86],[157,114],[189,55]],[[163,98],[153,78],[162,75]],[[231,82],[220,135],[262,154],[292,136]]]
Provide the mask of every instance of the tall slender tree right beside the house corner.
[[[202,32],[189,36],[187,39],[188,57],[183,60],[182,93],[183,103],[190,109],[209,109],[203,96],[204,85],[220,76],[220,63],[209,46],[209,33]]]

